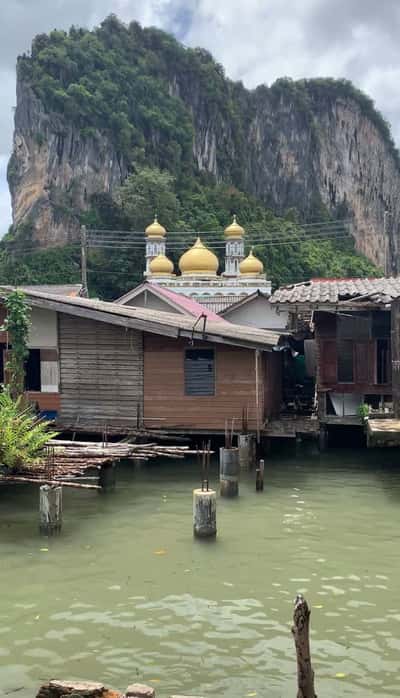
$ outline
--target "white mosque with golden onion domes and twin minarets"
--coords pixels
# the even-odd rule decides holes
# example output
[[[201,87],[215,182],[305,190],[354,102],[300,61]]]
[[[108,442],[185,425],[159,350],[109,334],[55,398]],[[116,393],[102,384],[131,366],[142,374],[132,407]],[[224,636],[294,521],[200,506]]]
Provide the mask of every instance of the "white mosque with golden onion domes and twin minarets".
[[[218,274],[217,256],[198,237],[179,259],[179,274],[166,255],[167,231],[158,222],[146,228],[146,271],[151,284],[158,284],[175,293],[221,312],[228,306],[254,293],[271,294],[271,282],[266,279],[264,266],[253,250],[245,256],[245,230],[236,216],[225,229],[225,270]]]

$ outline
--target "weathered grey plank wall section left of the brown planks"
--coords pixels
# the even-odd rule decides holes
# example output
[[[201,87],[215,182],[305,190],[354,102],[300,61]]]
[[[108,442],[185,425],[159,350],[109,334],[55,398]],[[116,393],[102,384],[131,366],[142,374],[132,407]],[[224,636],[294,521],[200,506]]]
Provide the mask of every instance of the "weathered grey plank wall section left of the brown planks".
[[[59,314],[62,426],[126,431],[143,405],[142,332]]]

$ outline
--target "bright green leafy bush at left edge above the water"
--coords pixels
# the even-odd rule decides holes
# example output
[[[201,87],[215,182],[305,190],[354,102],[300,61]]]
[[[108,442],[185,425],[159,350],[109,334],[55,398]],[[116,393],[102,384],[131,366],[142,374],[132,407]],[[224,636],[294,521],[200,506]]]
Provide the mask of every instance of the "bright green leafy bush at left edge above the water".
[[[40,465],[44,447],[57,436],[39,419],[23,397],[13,400],[8,389],[0,393],[0,464],[16,471]]]

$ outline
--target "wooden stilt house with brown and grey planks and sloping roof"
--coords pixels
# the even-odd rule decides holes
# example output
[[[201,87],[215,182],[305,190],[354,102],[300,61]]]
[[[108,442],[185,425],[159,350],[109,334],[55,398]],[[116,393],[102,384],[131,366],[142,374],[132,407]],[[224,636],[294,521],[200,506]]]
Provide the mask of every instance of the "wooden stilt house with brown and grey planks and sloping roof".
[[[276,333],[36,291],[26,298],[27,392],[60,429],[222,433],[245,410],[261,431],[279,412]]]

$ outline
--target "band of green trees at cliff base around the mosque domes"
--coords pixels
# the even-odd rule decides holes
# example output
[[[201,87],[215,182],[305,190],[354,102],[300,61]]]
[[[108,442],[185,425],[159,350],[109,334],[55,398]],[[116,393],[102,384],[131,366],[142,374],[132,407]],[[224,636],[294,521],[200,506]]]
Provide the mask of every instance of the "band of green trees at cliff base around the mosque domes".
[[[350,238],[323,240],[323,230],[313,229],[307,240],[296,221],[296,212],[279,218],[260,202],[231,185],[187,181],[177,191],[171,174],[144,167],[132,174],[111,198],[98,194],[82,222],[94,229],[143,230],[154,210],[162,213],[161,222],[181,235],[167,237],[167,254],[178,262],[180,254],[193,241],[188,231],[215,231],[220,239],[215,250],[223,264],[223,230],[236,212],[247,227],[249,242],[263,260],[274,286],[310,277],[374,276],[379,271],[354,251]],[[329,233],[327,234],[329,238]],[[318,241],[314,238],[318,237]],[[140,238],[135,238],[140,240]],[[142,239],[144,243],[144,240]],[[170,247],[168,248],[168,242]],[[249,243],[247,247],[249,246]],[[79,282],[79,246],[16,254],[11,236],[0,254],[0,283],[76,283]],[[130,250],[92,249],[89,254],[89,286],[92,294],[112,300],[143,280],[144,244]]]

